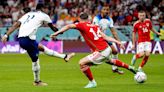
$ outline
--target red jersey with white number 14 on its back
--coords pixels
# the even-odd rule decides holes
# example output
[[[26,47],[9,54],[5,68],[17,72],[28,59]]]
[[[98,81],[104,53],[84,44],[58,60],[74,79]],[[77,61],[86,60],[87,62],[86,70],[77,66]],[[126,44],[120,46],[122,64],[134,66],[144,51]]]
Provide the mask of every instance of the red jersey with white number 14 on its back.
[[[79,22],[75,25],[92,51],[102,51],[108,47],[107,42],[99,34],[100,29],[98,26],[90,22]]]

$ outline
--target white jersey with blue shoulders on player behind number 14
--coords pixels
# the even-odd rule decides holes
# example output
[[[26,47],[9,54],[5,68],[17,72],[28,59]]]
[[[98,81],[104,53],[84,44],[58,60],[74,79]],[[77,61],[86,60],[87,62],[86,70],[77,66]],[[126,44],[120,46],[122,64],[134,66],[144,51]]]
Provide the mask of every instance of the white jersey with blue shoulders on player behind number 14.
[[[93,18],[92,21],[93,24],[100,26],[100,28],[102,28],[102,30],[106,30],[107,28],[112,28],[114,27],[113,25],[113,19],[110,18],[109,16],[102,18],[101,14],[96,15]]]

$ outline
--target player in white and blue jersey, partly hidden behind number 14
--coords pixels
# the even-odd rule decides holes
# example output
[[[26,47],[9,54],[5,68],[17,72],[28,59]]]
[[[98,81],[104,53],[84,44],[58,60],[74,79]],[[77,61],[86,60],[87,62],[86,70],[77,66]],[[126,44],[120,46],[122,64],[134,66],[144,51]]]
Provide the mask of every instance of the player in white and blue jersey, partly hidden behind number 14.
[[[117,32],[114,29],[114,25],[113,25],[113,19],[110,18],[109,16],[109,6],[108,5],[104,5],[101,9],[101,13],[96,15],[93,18],[93,24],[95,25],[99,25],[100,28],[106,32],[106,30],[108,28],[110,28],[111,33],[113,34],[114,38],[119,40]],[[119,40],[120,41],[120,40]],[[112,49],[112,59],[118,59],[118,52],[116,50],[116,48],[114,47],[114,45],[111,42],[108,42],[109,46]],[[117,66],[113,65],[112,66],[112,71],[116,72],[118,74],[123,74],[124,72],[119,70]]]

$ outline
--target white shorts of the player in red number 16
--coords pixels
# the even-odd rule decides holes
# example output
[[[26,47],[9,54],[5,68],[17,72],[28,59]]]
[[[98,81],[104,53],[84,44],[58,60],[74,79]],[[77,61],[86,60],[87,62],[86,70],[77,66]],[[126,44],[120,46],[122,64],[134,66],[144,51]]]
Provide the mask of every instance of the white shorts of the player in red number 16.
[[[140,42],[137,45],[137,53],[149,51],[151,52],[152,44],[151,42]]]

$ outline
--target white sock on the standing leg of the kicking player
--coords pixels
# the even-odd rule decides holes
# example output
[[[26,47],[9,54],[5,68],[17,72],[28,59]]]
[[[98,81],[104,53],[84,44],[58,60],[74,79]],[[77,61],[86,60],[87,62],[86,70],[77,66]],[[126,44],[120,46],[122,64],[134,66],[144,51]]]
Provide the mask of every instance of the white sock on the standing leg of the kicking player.
[[[33,75],[34,75],[34,81],[40,81],[39,59],[36,62],[32,62],[32,71],[33,71]]]

